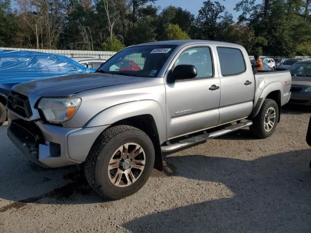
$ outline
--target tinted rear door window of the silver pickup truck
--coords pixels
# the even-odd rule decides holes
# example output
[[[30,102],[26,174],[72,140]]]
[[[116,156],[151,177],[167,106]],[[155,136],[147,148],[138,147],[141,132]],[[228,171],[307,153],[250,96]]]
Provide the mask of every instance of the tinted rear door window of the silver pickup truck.
[[[240,74],[246,70],[241,50],[217,47],[217,52],[223,76]]]

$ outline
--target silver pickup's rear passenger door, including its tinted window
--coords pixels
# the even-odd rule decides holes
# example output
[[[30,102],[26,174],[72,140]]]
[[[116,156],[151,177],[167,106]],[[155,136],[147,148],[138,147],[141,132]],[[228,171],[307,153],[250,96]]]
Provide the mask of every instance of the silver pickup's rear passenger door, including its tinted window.
[[[241,47],[216,47],[219,60],[221,98],[219,124],[249,116],[253,109],[255,79],[247,52]],[[248,66],[249,65],[249,66]]]

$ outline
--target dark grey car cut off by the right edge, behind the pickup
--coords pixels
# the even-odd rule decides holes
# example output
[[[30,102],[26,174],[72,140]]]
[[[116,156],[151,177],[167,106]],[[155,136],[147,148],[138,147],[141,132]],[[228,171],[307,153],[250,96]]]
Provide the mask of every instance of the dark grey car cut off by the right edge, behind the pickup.
[[[311,61],[297,62],[289,71],[292,74],[290,102],[311,106]]]

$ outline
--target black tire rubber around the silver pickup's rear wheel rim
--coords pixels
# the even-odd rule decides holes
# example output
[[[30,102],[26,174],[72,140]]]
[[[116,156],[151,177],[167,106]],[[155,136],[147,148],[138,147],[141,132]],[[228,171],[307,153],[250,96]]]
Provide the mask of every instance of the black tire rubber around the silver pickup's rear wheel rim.
[[[265,115],[268,109],[270,109],[271,107],[275,109],[276,117],[272,129],[269,132],[267,132],[264,128]],[[278,111],[279,109],[275,100],[271,99],[264,100],[258,115],[252,118],[253,125],[249,127],[253,135],[259,138],[270,137],[276,130],[276,125],[278,122]]]

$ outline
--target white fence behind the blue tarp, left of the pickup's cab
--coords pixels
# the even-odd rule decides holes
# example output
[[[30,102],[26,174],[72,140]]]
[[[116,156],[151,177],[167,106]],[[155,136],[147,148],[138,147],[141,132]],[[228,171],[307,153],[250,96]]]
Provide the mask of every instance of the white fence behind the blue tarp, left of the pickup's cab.
[[[92,58],[101,58],[108,59],[116,52],[112,51],[88,51],[88,50],[36,50],[36,49],[21,49],[21,48],[4,48],[0,47],[0,50],[26,50],[26,51],[35,51],[35,52],[46,52],[58,55],[65,55],[67,57],[92,57]]]

